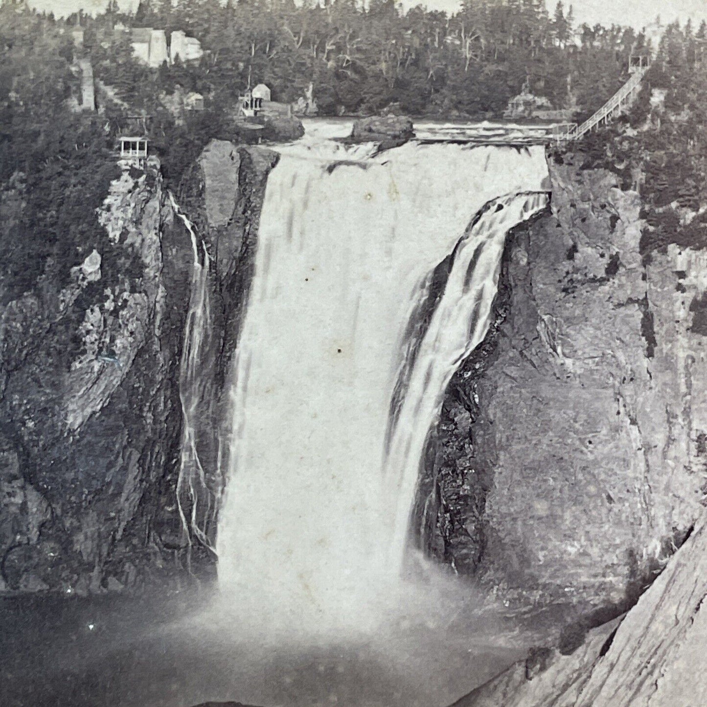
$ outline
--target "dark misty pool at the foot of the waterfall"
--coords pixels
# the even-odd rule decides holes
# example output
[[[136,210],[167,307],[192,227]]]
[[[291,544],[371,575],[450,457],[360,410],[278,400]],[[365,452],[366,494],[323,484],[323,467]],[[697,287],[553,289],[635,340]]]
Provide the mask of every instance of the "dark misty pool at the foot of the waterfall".
[[[218,614],[208,592],[169,597],[0,600],[4,707],[445,707],[527,651],[509,626],[455,619],[390,640],[259,645]],[[222,625],[219,625],[222,624]],[[513,645],[515,644],[515,645]]]

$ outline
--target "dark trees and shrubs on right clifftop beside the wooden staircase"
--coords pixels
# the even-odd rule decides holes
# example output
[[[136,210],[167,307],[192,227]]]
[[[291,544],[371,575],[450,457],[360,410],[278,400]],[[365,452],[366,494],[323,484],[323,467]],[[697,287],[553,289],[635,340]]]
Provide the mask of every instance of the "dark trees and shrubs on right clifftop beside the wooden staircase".
[[[652,105],[655,89],[665,91],[665,100]],[[644,258],[672,243],[707,247],[705,115],[707,74],[694,62],[689,28],[674,24],[628,117],[578,144],[583,168],[611,170],[624,188],[641,192]]]

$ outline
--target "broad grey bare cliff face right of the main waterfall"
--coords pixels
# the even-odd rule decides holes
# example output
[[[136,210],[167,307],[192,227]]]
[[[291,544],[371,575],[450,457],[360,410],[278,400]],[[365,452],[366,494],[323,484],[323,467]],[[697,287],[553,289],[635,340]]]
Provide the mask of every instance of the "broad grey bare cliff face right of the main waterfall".
[[[550,169],[552,214],[510,239],[496,325],[448,387],[419,528],[525,607],[624,607],[703,503],[707,255],[643,262],[638,194]]]

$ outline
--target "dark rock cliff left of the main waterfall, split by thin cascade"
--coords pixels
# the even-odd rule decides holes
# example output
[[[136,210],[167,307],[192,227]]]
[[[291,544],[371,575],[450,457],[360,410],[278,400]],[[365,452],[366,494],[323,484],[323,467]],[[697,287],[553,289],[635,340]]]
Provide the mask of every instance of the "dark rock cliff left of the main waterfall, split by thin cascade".
[[[177,194],[211,259],[196,443],[212,494],[220,395],[275,161],[216,141]],[[23,208],[10,197],[5,211]],[[42,276],[14,298],[2,293],[0,590],[121,590],[182,576],[189,554],[213,560],[198,542],[189,549],[176,503],[192,239],[154,161],[123,170],[96,218],[95,247],[67,238],[66,252],[79,255],[66,284]]]

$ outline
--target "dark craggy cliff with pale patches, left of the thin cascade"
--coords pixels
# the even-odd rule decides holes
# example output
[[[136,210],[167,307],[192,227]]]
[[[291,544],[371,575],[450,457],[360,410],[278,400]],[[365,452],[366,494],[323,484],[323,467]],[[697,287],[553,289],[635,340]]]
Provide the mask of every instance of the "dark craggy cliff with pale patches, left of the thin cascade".
[[[174,467],[191,246],[159,165],[124,169],[104,247],[0,312],[0,586],[120,588],[170,553],[156,532]],[[67,241],[67,248],[71,245]]]

